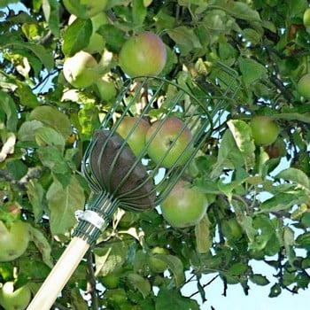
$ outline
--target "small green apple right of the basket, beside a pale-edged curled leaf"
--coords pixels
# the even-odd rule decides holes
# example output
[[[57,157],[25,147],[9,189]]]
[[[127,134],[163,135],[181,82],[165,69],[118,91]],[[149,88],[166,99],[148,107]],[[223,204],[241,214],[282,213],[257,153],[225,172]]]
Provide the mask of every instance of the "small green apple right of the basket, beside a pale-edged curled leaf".
[[[254,142],[258,145],[274,143],[280,131],[276,122],[267,116],[254,116],[250,127]]]

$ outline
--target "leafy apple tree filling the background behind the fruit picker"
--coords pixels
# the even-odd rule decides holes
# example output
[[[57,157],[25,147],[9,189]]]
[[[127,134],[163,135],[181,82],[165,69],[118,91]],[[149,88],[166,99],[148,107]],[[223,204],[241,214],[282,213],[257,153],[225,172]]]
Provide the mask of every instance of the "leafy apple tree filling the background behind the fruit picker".
[[[119,61],[145,31],[164,43],[147,54],[165,57],[160,77],[220,113],[187,171],[208,207],[182,228],[160,206],[120,208],[54,308],[212,308],[206,277],[221,279],[219,298],[231,284],[268,285],[271,298],[306,290],[309,25],[306,0],[0,0],[0,305],[13,305],[5,283],[27,288],[27,304],[70,242],[90,195],[81,159],[128,80],[122,68],[153,72],[130,46]]]

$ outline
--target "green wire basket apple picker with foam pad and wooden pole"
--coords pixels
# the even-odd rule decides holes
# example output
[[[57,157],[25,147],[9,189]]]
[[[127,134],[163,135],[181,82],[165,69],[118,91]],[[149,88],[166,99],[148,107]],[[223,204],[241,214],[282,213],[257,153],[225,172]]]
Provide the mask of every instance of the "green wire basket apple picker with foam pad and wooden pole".
[[[240,86],[235,71],[221,64],[217,69],[224,72],[225,76],[225,81],[215,81],[215,85],[221,87],[221,97],[212,97],[199,85],[193,84],[192,88],[203,94],[202,97],[195,97],[190,89],[183,89],[173,81],[159,77],[142,77],[124,82],[83,156],[81,168],[91,189],[89,202],[85,210],[76,213],[78,224],[73,238],[27,307],[28,310],[50,309],[118,207],[142,212],[159,205],[167,197],[185,173],[190,160],[213,134],[213,124],[216,122],[219,125],[224,121],[221,115]],[[166,97],[167,88],[172,90],[169,97]],[[140,104],[143,96],[141,94],[145,93],[147,98],[144,97],[143,101],[146,101],[146,105],[137,117],[136,125],[129,130],[127,137],[121,138],[117,134],[121,120],[135,114],[136,105]],[[183,125],[174,140],[170,141],[167,151],[155,162],[148,156],[148,147],[171,117],[179,118]],[[139,121],[145,119],[157,120],[157,126],[141,153],[135,155],[128,140]],[[174,143],[183,131],[189,129],[192,133],[190,143],[184,146],[171,166],[164,167],[165,158],[174,148]]]

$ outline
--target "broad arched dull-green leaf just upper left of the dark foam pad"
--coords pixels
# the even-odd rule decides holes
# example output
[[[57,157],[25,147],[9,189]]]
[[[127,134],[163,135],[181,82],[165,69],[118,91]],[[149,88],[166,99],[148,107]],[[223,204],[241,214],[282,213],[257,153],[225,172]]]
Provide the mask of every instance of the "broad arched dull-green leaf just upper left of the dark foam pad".
[[[40,120],[44,125],[54,128],[66,140],[72,134],[71,122],[63,112],[50,105],[40,105],[29,115],[29,120]]]

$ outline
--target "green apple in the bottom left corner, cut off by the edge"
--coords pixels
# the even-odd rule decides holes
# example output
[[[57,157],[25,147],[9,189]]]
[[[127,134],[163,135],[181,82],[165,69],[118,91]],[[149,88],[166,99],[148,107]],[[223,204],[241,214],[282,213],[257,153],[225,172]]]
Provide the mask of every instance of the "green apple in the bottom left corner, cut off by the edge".
[[[14,289],[13,282],[6,282],[0,289],[0,305],[5,310],[24,310],[30,302],[31,291],[27,284]]]

